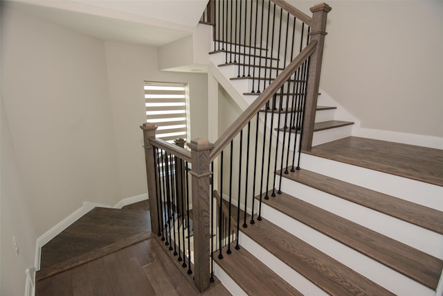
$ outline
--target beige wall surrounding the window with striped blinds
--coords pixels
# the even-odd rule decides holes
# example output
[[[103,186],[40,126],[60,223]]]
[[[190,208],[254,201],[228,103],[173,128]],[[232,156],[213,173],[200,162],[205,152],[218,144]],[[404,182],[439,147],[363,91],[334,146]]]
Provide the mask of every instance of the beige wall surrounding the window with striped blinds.
[[[118,174],[123,196],[146,192],[143,133],[146,121],[143,81],[187,82],[190,92],[191,138],[208,137],[206,74],[159,71],[157,50],[118,42],[105,42],[118,150]]]

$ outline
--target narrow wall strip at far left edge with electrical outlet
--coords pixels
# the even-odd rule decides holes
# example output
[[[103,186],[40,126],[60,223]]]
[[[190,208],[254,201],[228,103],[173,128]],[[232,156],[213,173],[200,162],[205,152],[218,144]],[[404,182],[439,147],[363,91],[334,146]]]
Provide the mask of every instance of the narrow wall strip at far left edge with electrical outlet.
[[[34,265],[37,239],[30,218],[32,195],[23,186],[23,174],[17,165],[3,102],[0,113],[0,295],[24,295],[25,270]],[[12,243],[14,236],[19,247],[18,255]]]

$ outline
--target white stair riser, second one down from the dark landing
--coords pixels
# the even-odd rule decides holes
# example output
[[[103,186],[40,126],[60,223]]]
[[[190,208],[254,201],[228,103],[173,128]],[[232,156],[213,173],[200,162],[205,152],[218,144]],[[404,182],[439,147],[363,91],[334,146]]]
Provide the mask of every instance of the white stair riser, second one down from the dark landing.
[[[417,250],[443,259],[443,236],[441,234],[392,218],[378,211],[372,211],[354,202],[337,198],[287,178],[282,179],[281,190],[325,211],[372,229],[374,232],[379,232]]]

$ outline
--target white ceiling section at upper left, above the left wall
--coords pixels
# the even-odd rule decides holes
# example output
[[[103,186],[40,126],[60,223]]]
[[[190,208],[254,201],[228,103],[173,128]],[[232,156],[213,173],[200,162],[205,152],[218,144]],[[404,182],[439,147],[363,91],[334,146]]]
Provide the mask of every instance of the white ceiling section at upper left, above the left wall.
[[[208,0],[10,0],[2,5],[102,40],[161,46],[195,30]]]

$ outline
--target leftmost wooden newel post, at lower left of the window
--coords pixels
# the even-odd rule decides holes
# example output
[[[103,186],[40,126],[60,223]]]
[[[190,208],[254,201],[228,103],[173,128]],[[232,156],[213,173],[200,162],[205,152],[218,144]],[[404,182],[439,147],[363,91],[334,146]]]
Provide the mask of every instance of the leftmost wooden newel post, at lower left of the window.
[[[150,202],[151,230],[154,234],[161,234],[161,228],[159,225],[159,208],[157,207],[154,147],[150,144],[149,140],[151,137],[155,138],[157,127],[154,123],[143,123],[140,128],[143,130],[143,139],[145,141],[147,195]]]

